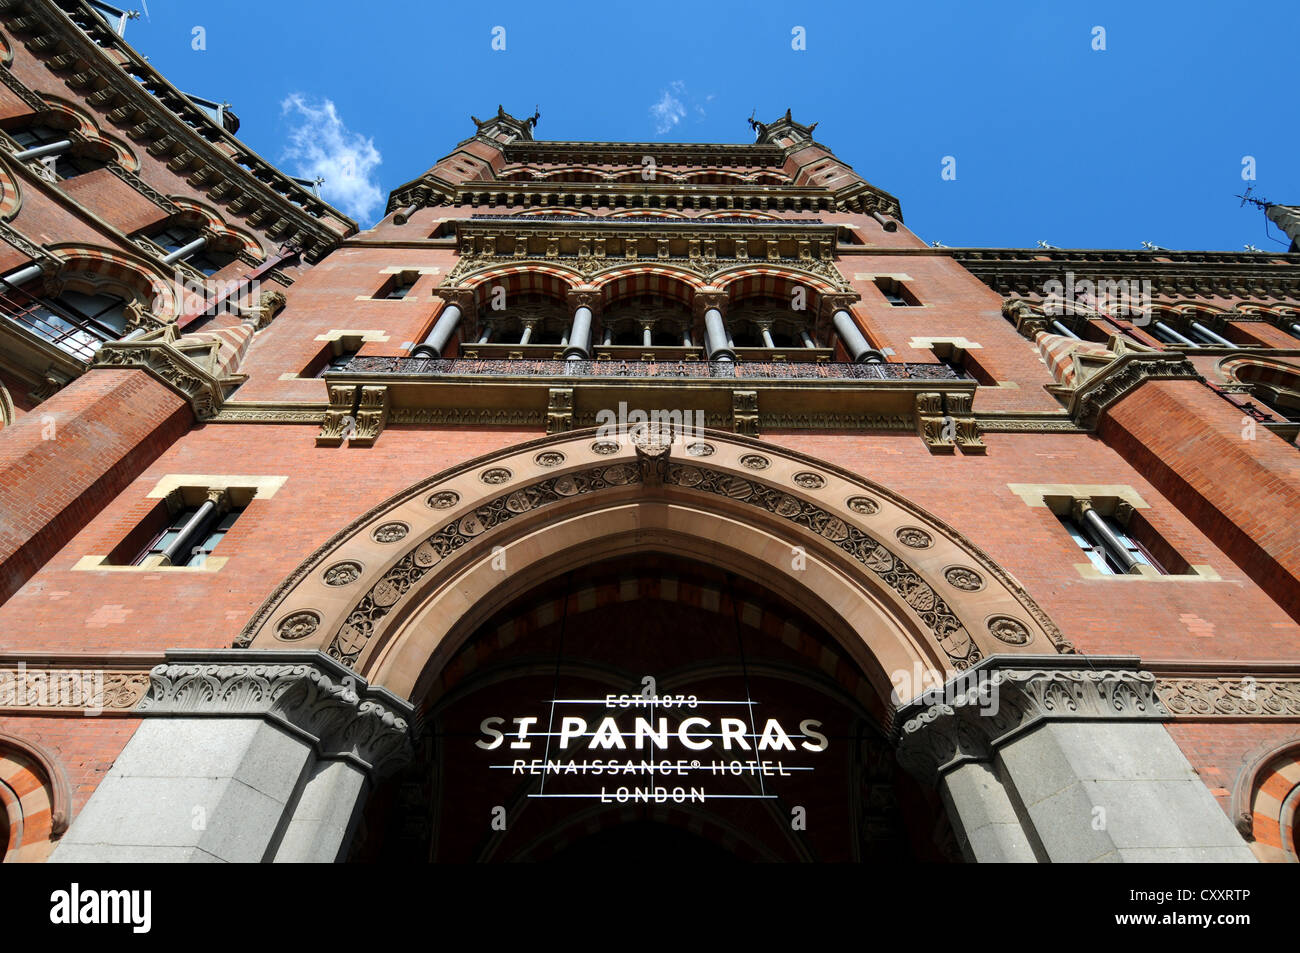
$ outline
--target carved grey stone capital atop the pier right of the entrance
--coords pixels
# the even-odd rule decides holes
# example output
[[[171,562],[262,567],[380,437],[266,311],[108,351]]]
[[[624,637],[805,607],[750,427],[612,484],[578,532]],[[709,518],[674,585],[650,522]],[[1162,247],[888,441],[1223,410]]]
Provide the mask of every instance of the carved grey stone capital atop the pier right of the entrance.
[[[1136,658],[991,657],[949,681],[933,703],[896,715],[898,761],[933,783],[1044,722],[1165,722],[1156,676]]]

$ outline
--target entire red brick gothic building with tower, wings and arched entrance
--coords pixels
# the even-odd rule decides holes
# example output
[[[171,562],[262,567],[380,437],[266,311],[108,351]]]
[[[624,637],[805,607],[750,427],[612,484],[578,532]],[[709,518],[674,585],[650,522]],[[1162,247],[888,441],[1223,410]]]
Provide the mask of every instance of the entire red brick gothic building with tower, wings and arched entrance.
[[[789,111],[358,231],[0,38],[8,858],[1296,859],[1300,256],[930,247]]]

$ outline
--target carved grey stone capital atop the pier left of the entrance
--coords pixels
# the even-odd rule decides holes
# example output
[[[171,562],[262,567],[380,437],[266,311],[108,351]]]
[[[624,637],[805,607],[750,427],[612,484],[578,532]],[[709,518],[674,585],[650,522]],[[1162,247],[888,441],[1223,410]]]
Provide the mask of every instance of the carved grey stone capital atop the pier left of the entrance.
[[[382,775],[410,757],[412,707],[318,651],[172,650],[136,714],[260,716],[321,757]]]

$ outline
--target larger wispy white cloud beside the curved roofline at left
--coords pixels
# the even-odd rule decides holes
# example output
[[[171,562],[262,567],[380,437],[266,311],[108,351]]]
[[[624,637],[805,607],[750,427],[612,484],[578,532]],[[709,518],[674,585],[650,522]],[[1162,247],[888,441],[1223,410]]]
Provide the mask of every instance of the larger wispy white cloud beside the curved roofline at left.
[[[309,103],[295,92],[280,107],[292,122],[285,160],[295,164],[294,174],[324,178],[321,198],[364,225],[384,203],[374,176],[384,157],[374,139],[350,130],[329,99]]]

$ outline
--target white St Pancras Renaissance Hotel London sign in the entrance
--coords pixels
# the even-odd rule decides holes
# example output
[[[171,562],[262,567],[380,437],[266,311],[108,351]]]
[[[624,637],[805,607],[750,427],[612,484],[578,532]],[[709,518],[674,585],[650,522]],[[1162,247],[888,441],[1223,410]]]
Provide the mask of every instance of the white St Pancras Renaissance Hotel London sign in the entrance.
[[[480,723],[493,770],[540,777],[536,798],[699,803],[775,798],[772,779],[811,771],[829,744],[822,723],[760,719],[753,701],[686,694],[555,698],[550,712]]]

